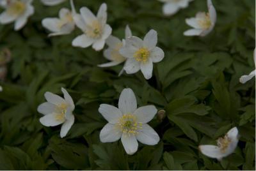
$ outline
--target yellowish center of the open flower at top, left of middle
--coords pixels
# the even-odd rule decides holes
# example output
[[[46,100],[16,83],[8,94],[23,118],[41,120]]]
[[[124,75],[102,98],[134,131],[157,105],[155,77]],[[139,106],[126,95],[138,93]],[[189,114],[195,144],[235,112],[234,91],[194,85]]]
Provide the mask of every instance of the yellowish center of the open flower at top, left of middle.
[[[99,21],[94,20],[92,24],[86,27],[85,34],[91,38],[100,38],[100,36],[102,36],[102,26],[100,25]]]

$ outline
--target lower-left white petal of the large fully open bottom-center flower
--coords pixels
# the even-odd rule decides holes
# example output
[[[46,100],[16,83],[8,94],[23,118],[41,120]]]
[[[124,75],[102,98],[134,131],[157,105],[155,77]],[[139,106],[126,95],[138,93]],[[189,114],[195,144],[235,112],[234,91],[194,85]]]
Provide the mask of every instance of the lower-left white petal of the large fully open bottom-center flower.
[[[121,138],[122,132],[114,124],[106,124],[100,131],[101,142],[115,142]]]

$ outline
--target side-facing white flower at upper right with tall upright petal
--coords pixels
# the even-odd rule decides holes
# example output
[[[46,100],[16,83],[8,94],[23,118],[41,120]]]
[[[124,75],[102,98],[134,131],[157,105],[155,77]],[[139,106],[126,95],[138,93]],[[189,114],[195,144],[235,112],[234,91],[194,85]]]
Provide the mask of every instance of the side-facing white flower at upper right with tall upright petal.
[[[208,13],[198,12],[196,17],[186,19],[186,23],[193,27],[184,32],[185,36],[206,36],[209,34],[216,23],[216,10],[211,0],[207,0]]]

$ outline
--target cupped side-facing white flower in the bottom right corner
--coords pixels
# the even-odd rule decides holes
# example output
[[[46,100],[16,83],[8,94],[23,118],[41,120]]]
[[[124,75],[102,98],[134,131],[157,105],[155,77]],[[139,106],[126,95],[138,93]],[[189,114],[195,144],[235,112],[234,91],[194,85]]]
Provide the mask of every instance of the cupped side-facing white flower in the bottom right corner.
[[[238,143],[238,130],[236,127],[228,131],[224,137],[217,140],[217,145],[199,145],[200,151],[209,158],[222,158],[232,154]]]

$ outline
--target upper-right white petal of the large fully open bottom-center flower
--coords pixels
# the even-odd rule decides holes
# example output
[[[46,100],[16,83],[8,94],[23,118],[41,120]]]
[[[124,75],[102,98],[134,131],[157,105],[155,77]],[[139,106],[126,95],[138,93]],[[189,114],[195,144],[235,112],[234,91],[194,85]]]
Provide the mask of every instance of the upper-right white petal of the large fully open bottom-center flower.
[[[138,122],[145,124],[151,121],[156,113],[156,107],[154,107],[154,105],[148,105],[145,107],[139,107],[135,110],[134,115],[136,115]]]

